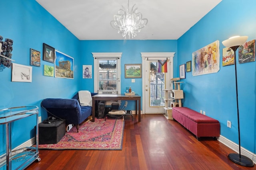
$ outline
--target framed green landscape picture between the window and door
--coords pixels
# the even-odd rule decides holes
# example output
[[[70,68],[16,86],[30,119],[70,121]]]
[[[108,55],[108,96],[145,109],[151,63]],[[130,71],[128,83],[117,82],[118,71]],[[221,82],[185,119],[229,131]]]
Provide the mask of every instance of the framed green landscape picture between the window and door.
[[[125,78],[141,78],[141,64],[124,64]]]

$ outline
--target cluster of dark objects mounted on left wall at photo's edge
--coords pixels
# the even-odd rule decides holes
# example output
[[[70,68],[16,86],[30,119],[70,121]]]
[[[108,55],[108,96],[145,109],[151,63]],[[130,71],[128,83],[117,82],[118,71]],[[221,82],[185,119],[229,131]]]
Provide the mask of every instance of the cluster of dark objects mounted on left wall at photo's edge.
[[[6,38],[3,41],[3,37],[0,36],[0,65],[3,64],[4,66],[10,68],[12,62],[12,45],[13,40]]]

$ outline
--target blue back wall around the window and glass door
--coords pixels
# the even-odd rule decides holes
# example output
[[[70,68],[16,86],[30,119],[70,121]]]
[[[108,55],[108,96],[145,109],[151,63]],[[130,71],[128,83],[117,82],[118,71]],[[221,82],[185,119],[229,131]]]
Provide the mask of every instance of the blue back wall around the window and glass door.
[[[140,53],[142,52],[175,52],[177,53],[177,40],[81,41],[81,49],[82,49],[81,65],[94,64],[94,58],[92,57],[92,53],[122,53],[121,93],[124,93],[126,91],[125,88],[127,86],[131,86],[132,91],[142,96],[142,78],[136,78],[135,83],[132,83],[130,78],[124,78],[124,64],[141,64],[142,57]],[[174,65],[176,65],[176,63],[177,63],[177,57],[174,57]],[[94,86],[92,86],[92,84],[94,84],[93,74],[92,74],[92,79],[82,79],[80,89],[94,91]],[[133,103],[133,104],[130,104],[130,103]],[[127,109],[135,110],[134,102],[128,102]]]

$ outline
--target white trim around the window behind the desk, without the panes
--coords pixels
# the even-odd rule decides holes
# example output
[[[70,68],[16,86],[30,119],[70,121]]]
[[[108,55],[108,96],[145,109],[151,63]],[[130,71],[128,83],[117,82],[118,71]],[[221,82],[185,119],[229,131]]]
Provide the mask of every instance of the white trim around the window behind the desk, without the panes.
[[[94,92],[98,93],[98,65],[99,59],[117,59],[117,93],[120,94],[121,92],[121,57],[122,53],[92,53],[92,57],[94,58]]]

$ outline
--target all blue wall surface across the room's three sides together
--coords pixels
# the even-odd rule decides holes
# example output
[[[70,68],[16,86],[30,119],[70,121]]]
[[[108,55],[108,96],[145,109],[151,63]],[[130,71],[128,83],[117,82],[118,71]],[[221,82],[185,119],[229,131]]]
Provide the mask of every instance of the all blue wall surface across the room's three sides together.
[[[0,35],[14,40],[14,63],[30,65],[30,48],[40,51],[42,56],[42,44],[46,43],[74,58],[74,79],[43,76],[44,64],[54,64],[43,61],[42,57],[40,67],[32,66],[31,83],[11,82],[11,69],[0,66],[0,109],[16,106],[40,108],[44,98],[71,98],[78,90],[94,91],[94,77],[82,79],[82,65],[93,65],[92,53],[96,52],[122,52],[121,66],[142,63],[141,52],[176,52],[174,77],[177,77],[180,64],[191,61],[194,51],[216,40],[220,41],[222,56],[223,40],[233,35],[248,35],[248,40],[255,39],[255,6],[254,0],[222,0],[178,40],[79,41],[36,1],[2,1],[2,9],[10,12],[1,20]],[[242,147],[255,153],[255,62],[238,64],[237,67]],[[124,78],[124,70],[121,71],[121,92],[126,86],[132,86],[142,95],[142,79],[137,78],[131,83],[130,79]],[[223,67],[220,64],[219,72],[201,76],[186,72],[183,81],[184,106],[196,111],[202,109],[206,115],[218,119],[221,135],[238,143],[234,65]],[[133,109],[133,106],[128,106]],[[39,111],[42,120],[45,119],[46,112],[41,108]],[[33,136],[32,118],[12,124],[12,147]],[[231,129],[226,127],[227,120],[232,122]],[[4,133],[4,126],[0,125],[0,143],[5,143]],[[4,146],[0,145],[0,154],[3,150]]]

